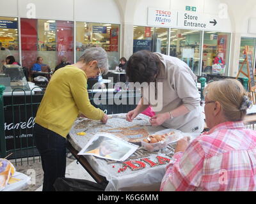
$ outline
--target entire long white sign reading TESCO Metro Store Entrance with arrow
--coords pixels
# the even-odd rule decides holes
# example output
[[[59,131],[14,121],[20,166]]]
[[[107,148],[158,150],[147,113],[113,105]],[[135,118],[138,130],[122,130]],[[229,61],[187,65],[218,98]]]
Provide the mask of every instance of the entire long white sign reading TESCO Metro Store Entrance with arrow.
[[[200,31],[231,32],[229,18],[191,11],[163,10],[148,8],[148,25],[178,27]]]

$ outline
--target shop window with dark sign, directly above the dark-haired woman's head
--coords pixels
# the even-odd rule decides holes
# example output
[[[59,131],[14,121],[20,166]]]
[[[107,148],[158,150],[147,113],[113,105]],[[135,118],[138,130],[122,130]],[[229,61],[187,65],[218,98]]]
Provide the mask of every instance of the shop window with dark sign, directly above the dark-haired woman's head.
[[[167,54],[168,28],[135,25],[133,28],[133,52],[139,50]]]

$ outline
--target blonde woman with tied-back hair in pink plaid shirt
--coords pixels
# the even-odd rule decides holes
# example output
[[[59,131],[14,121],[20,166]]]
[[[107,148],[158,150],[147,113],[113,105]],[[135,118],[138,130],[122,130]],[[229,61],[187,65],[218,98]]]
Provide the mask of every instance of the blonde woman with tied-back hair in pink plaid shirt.
[[[256,132],[243,124],[252,105],[237,80],[207,85],[205,120],[209,132],[177,143],[161,191],[256,191]]]

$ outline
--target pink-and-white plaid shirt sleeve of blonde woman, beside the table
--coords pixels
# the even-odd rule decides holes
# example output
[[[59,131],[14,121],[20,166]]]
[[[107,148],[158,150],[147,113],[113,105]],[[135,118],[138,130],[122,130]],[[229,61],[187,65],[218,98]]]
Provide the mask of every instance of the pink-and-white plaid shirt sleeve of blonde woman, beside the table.
[[[194,191],[199,186],[204,166],[204,150],[196,140],[186,152],[177,152],[167,166],[160,191]]]

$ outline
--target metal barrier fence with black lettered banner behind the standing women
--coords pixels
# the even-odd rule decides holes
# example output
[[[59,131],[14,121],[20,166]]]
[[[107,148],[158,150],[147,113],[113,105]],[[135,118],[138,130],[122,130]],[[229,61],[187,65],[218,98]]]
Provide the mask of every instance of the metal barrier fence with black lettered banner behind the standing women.
[[[12,92],[12,96],[3,97],[4,88],[3,85],[0,85],[0,157],[12,154],[8,159],[14,159],[15,165],[17,165],[17,159],[21,165],[24,161],[29,164],[31,157],[35,162],[35,157],[39,154],[33,138],[33,123],[44,91],[42,89],[37,94],[32,94],[32,89],[31,93],[26,95],[23,89],[14,89],[13,92],[21,91],[24,95],[15,96]],[[95,107],[106,110],[108,114],[127,113],[133,110],[141,97],[138,92],[134,91],[115,92],[113,94],[106,92],[99,97],[106,103],[98,104],[99,101],[94,99],[96,94],[89,94],[90,102]],[[122,104],[116,105],[116,101],[122,101]]]

